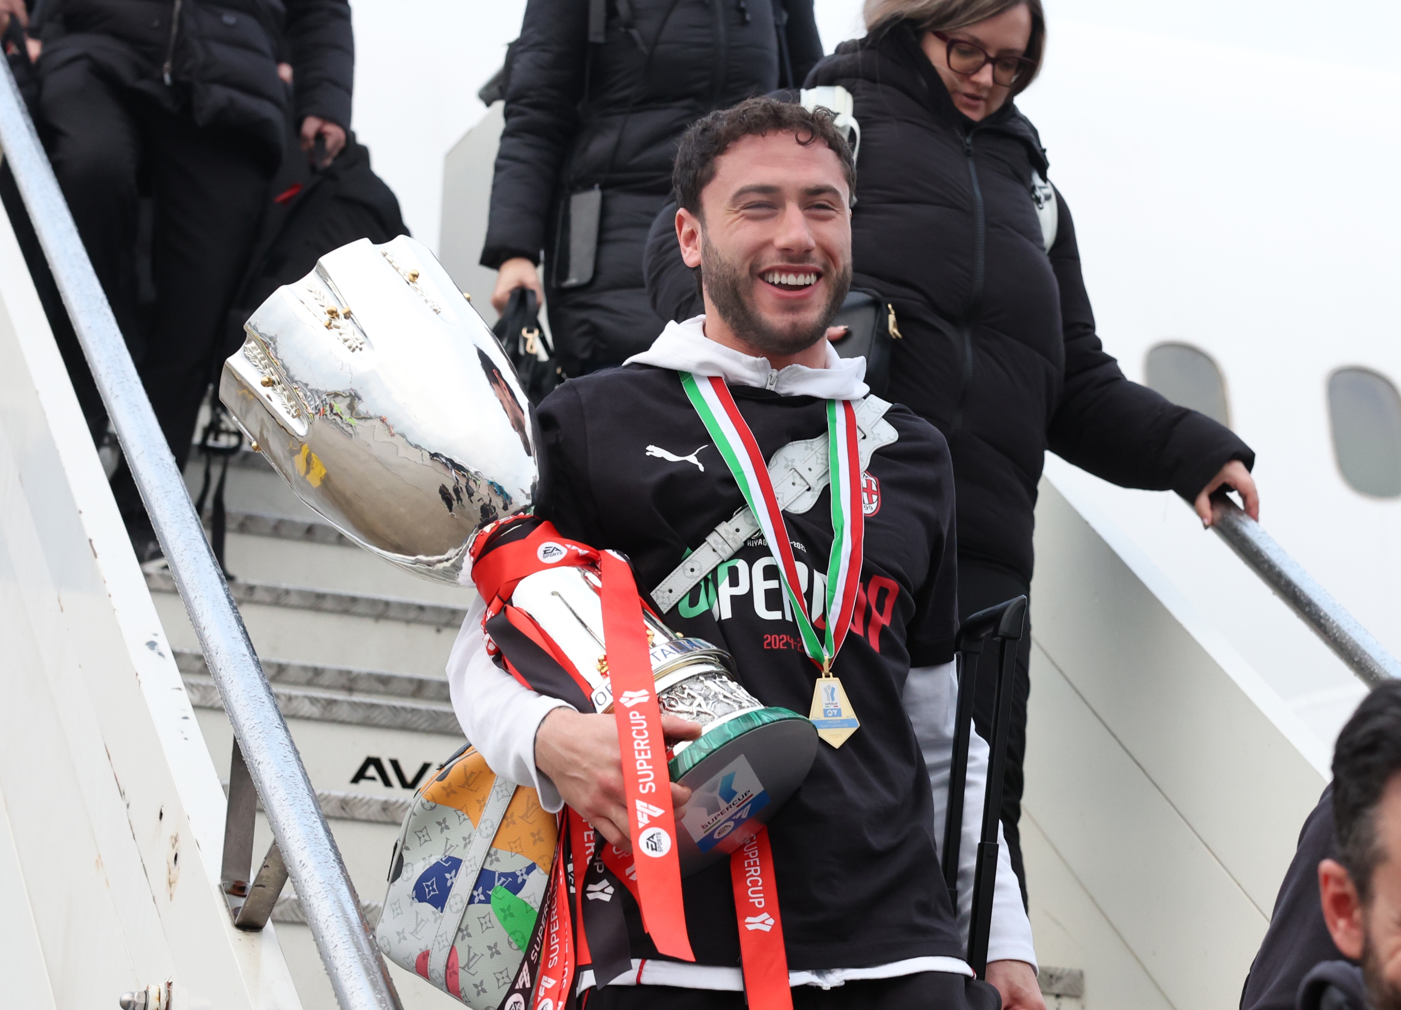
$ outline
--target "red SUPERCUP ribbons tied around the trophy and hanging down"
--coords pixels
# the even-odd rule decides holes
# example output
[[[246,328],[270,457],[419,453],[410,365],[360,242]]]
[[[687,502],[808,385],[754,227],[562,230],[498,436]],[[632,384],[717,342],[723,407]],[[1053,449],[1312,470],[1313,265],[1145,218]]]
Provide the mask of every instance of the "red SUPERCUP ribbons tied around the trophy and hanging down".
[[[598,574],[607,672],[630,814],[632,852],[626,852],[598,838],[576,811],[563,812],[551,894],[541,909],[545,922],[531,1003],[532,1010],[562,1010],[576,968],[593,967],[595,982],[607,985],[619,968],[630,967],[621,905],[611,899],[615,883],[626,887],[637,902],[658,953],[682,961],[695,958],[685,925],[661,709],[643,601],[632,570],[621,556],[566,539],[549,523],[523,520],[488,527],[474,545],[472,579],[486,601],[483,626],[495,654],[521,684],[562,698],[580,712],[591,712],[587,679],[528,614],[511,607],[510,595],[527,576],[560,565],[588,567]],[[493,545],[493,535],[509,539]],[[730,877],[750,1003],[765,1010],[789,1010],[793,1003],[768,829],[731,855]],[[591,888],[609,899],[590,899]],[[607,951],[590,944],[586,919],[595,923],[595,940]]]

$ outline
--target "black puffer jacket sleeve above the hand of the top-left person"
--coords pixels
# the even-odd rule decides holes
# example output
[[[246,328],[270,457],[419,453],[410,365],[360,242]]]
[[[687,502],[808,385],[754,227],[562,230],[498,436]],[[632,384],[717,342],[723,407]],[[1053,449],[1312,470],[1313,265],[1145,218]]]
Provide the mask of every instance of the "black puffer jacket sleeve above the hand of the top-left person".
[[[296,91],[296,123],[317,116],[350,129],[354,34],[346,0],[293,0],[283,27]]]

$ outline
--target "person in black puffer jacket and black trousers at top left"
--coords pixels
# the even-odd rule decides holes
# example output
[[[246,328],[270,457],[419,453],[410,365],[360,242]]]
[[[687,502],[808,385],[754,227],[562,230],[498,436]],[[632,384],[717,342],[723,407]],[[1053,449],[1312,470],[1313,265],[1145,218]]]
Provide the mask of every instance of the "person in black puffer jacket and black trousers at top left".
[[[29,28],[41,43],[39,134],[184,466],[286,137],[324,164],[345,146],[349,3],[43,0]],[[144,223],[143,196],[153,209]],[[143,228],[149,276],[137,269]],[[105,415],[77,342],[71,331],[56,336],[101,436]],[[125,465],[112,486],[139,559],[157,559]]]

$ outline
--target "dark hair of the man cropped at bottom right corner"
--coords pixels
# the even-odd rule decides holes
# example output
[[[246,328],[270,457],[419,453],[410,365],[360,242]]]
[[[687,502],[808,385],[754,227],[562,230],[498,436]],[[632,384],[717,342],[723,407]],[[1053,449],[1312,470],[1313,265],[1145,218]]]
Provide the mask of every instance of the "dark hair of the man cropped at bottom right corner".
[[[1386,853],[1377,838],[1377,808],[1387,783],[1401,775],[1401,681],[1362,699],[1338,734],[1332,755],[1332,818],[1338,862],[1363,902]]]

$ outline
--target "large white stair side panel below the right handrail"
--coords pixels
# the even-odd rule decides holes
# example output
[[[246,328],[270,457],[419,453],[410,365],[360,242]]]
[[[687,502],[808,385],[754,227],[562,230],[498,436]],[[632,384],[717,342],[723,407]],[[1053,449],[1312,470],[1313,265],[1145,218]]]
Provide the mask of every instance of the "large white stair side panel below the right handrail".
[[[1224,1010],[1327,752],[1112,524],[1094,521],[1042,480],[1026,808],[1168,1000]]]

